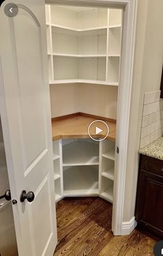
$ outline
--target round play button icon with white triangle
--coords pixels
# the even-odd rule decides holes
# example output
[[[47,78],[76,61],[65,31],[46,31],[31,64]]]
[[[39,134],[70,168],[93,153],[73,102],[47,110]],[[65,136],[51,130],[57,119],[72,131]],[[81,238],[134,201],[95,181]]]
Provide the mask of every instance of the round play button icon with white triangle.
[[[97,142],[106,139],[108,133],[108,125],[102,120],[95,120],[88,126],[88,135]]]

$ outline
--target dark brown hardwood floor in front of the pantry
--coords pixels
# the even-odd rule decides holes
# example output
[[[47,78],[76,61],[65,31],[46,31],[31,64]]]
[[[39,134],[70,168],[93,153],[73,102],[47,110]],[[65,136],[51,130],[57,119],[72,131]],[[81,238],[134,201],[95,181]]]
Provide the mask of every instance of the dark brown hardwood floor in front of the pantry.
[[[155,240],[134,230],[114,237],[112,204],[99,197],[64,198],[57,203],[58,244],[54,256],[149,256]]]

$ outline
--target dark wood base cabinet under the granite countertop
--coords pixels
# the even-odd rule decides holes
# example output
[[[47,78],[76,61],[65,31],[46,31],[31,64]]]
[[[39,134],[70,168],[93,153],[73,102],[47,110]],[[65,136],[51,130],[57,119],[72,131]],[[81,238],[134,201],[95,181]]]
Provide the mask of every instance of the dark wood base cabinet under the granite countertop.
[[[140,155],[135,216],[138,225],[163,238],[163,161]]]

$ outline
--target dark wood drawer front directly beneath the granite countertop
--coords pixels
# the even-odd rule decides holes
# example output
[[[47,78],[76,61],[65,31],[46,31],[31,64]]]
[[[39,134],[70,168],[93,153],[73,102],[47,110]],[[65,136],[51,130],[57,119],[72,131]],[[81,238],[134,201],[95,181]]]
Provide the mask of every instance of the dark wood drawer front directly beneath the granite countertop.
[[[163,161],[147,155],[140,155],[140,169],[163,176]]]

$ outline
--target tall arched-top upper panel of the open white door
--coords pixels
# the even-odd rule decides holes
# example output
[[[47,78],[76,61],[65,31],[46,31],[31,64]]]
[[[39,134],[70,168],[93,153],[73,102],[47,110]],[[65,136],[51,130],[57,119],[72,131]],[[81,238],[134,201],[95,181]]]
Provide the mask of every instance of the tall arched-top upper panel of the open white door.
[[[26,171],[32,161],[46,148],[44,95],[41,89],[44,87],[44,76],[42,76],[44,70],[41,65],[44,60],[41,53],[40,24],[36,22],[36,18],[31,18],[27,10],[19,8],[19,15],[13,22],[11,40],[13,44],[15,42],[13,47],[17,58],[19,123],[23,155],[26,155],[24,159]],[[37,144],[33,145],[35,139]]]

